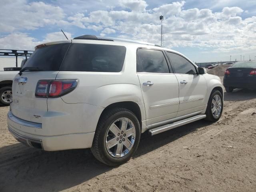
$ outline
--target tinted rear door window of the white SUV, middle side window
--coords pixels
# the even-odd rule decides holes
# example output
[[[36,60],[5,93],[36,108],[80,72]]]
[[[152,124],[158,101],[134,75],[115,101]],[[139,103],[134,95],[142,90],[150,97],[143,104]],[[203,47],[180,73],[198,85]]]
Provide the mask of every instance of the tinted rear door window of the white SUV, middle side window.
[[[170,73],[164,53],[149,49],[138,49],[137,72]]]

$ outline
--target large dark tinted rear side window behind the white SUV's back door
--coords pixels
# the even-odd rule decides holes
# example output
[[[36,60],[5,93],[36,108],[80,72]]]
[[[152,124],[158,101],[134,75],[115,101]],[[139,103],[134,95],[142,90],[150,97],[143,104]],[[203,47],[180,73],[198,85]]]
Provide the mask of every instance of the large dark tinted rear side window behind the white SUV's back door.
[[[124,46],[74,43],[60,71],[120,72],[125,53]]]

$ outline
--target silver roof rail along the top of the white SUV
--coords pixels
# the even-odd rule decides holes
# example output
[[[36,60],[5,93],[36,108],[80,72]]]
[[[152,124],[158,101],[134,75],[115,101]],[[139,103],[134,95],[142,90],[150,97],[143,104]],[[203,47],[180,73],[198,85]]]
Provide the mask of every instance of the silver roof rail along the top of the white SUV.
[[[95,36],[95,35],[82,35],[82,36],[79,36],[79,37],[75,37],[74,39],[102,40],[102,41],[122,41],[122,42],[139,43],[139,44],[161,47],[160,45],[153,44],[153,43],[148,43],[148,42],[143,42],[143,41],[128,40],[128,39],[114,38],[114,37],[100,37],[100,36]]]

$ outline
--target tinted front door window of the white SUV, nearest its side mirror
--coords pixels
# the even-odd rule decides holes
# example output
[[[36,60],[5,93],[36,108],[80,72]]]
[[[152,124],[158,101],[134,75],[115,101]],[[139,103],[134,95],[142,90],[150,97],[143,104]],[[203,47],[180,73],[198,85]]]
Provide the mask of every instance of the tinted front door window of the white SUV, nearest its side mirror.
[[[178,54],[166,52],[172,68],[177,74],[197,74],[195,66]]]

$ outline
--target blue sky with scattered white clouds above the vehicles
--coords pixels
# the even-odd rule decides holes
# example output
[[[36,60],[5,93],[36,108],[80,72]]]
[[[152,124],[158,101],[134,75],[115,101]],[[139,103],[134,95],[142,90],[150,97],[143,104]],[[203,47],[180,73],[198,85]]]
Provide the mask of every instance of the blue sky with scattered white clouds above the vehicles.
[[[83,34],[164,45],[194,62],[256,55],[256,1],[247,0],[2,0],[0,45],[33,50],[36,44]]]

